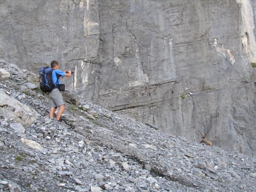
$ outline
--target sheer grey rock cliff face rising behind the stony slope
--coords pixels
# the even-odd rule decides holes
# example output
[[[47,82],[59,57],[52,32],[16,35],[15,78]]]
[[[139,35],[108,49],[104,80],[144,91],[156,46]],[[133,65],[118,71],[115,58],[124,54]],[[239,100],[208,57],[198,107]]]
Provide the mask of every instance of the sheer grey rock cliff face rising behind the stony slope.
[[[0,59],[34,72],[59,60],[74,71],[66,84],[97,104],[256,156],[255,4],[5,1]]]

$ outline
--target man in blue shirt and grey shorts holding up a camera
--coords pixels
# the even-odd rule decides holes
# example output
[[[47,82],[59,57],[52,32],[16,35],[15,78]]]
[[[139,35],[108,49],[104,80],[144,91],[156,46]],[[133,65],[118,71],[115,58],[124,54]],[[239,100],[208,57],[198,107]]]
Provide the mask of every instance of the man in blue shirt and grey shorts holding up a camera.
[[[49,99],[50,99],[50,114],[49,118],[53,118],[54,112],[57,107],[59,107],[59,110],[56,115],[56,119],[60,121],[60,117],[62,112],[64,111],[65,104],[63,102],[62,94],[60,93],[60,90],[58,89],[58,84],[60,84],[60,79],[62,79],[63,76],[70,77],[72,72],[68,70],[61,71],[59,70],[59,63],[58,61],[52,61],[51,62],[51,68],[52,68],[52,82],[55,84],[55,88],[49,93]]]

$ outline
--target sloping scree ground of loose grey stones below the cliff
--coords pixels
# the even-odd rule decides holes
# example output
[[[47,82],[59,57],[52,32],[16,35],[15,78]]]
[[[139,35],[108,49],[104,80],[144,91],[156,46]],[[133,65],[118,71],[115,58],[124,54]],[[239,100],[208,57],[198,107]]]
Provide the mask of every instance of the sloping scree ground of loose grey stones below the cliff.
[[[64,120],[49,119],[38,77],[2,61],[0,69],[0,192],[255,191],[255,158],[167,135],[70,94]]]

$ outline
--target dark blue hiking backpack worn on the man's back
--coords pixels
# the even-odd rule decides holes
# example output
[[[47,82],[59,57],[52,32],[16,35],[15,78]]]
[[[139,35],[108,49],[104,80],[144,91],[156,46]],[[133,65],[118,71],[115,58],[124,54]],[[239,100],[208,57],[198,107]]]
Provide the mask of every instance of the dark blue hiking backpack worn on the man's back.
[[[55,84],[52,82],[52,68],[46,66],[39,70],[39,82],[42,92],[51,92],[55,88]]]

